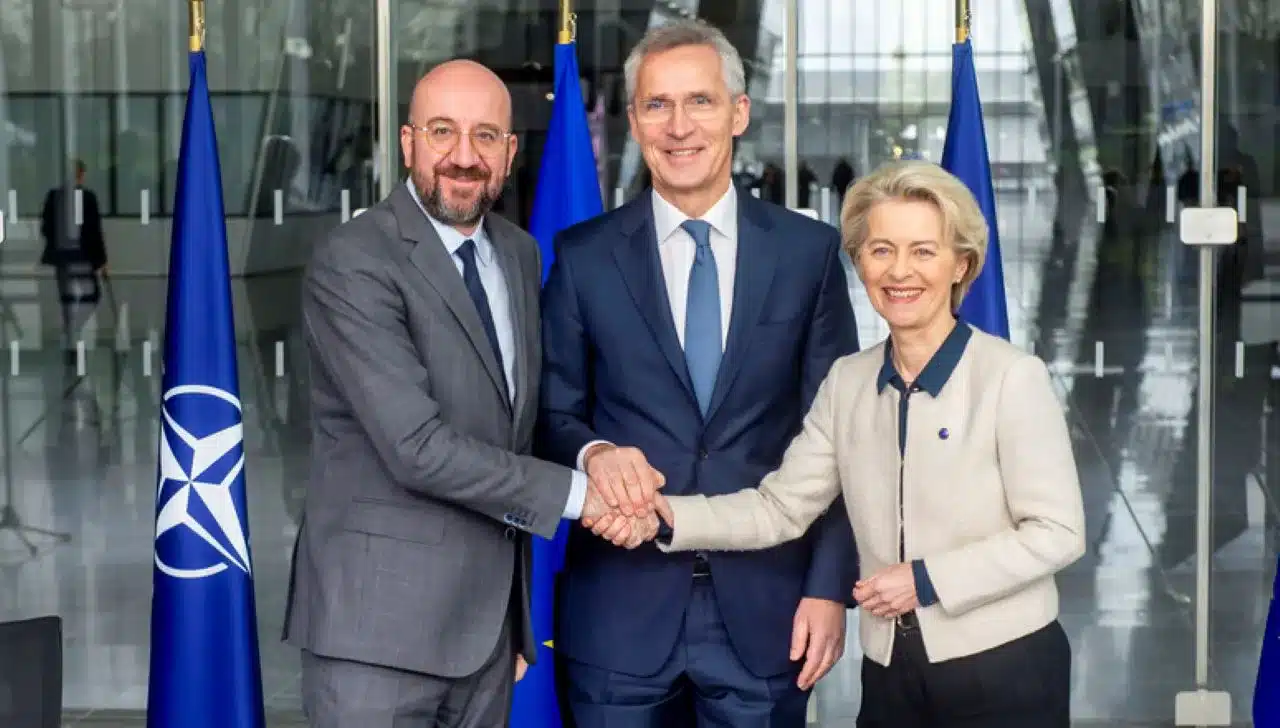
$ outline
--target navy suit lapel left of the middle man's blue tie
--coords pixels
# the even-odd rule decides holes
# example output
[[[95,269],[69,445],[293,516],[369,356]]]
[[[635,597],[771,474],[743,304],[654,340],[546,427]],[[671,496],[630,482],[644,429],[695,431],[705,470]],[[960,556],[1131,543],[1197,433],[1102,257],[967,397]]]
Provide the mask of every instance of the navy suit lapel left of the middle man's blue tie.
[[[676,336],[676,321],[671,316],[671,301],[667,298],[667,284],[662,276],[662,261],[658,257],[658,233],[653,224],[653,207],[648,194],[631,201],[630,219],[623,221],[625,241],[613,248],[622,280],[631,298],[640,308],[644,319],[658,343],[658,349],[671,365],[671,371],[685,386],[690,399],[694,398],[694,385],[685,365],[685,351],[680,348]]]

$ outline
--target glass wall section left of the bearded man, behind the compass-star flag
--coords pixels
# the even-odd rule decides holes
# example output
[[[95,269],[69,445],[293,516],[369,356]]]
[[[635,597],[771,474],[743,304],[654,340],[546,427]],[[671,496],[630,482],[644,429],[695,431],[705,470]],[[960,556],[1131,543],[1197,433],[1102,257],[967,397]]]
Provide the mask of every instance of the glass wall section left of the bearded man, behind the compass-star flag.
[[[297,269],[376,197],[374,8],[229,0],[209,3],[206,20],[264,678],[273,709],[296,710],[297,654],[276,636],[306,476]],[[186,3],[0,0],[0,621],[61,618],[68,724],[146,699],[187,38]],[[74,219],[55,198],[74,200]],[[105,275],[42,264],[51,226],[82,243],[100,229]],[[0,663],[17,664],[10,649]],[[31,695],[0,672],[8,715]]]

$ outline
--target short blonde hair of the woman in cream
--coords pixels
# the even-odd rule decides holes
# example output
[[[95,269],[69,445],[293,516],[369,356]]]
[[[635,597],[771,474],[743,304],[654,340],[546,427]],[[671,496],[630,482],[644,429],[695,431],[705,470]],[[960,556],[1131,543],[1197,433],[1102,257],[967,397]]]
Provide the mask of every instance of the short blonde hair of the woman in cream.
[[[887,200],[929,202],[942,214],[942,234],[956,255],[969,261],[964,278],[951,287],[951,311],[960,310],[969,287],[987,260],[987,219],[965,183],[928,161],[895,161],[858,180],[845,193],[840,210],[840,233],[854,265],[867,242],[867,220],[876,205]]]

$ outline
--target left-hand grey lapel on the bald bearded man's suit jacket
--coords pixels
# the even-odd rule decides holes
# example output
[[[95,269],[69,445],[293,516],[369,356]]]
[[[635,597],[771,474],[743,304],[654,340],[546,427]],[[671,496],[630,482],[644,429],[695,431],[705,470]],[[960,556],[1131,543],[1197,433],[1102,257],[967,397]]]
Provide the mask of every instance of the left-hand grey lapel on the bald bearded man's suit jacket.
[[[426,279],[431,288],[439,293],[449,312],[453,313],[462,330],[466,331],[467,340],[471,342],[471,348],[475,349],[476,356],[484,362],[484,368],[489,372],[493,385],[499,392],[506,393],[506,375],[502,367],[498,366],[498,360],[493,356],[493,348],[489,345],[484,325],[480,322],[480,313],[476,312],[475,303],[471,301],[471,296],[467,294],[466,285],[462,284],[462,276],[458,275],[458,269],[453,258],[444,249],[444,243],[435,234],[431,223],[422,214],[422,210],[419,209],[417,202],[413,201],[413,197],[403,184],[396,188],[390,201],[396,221],[399,224],[401,235],[413,243],[413,249],[408,255],[410,262],[422,274],[422,278]],[[503,397],[503,400],[506,402],[507,397]]]

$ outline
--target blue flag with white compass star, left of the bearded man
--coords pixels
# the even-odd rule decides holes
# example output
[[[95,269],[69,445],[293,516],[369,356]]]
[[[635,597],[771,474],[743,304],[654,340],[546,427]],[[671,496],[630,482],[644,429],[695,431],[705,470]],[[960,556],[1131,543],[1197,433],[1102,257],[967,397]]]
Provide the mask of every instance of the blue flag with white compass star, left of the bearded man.
[[[205,54],[178,156],[165,311],[148,728],[264,728],[223,183]]]

